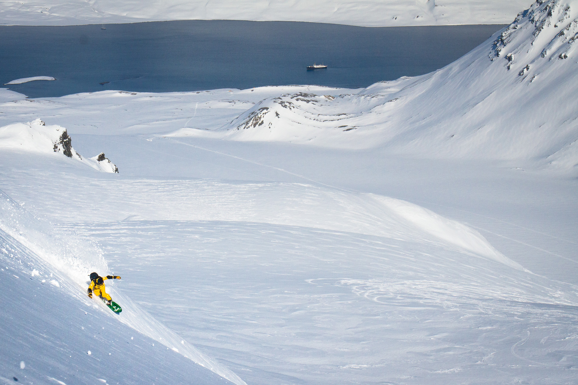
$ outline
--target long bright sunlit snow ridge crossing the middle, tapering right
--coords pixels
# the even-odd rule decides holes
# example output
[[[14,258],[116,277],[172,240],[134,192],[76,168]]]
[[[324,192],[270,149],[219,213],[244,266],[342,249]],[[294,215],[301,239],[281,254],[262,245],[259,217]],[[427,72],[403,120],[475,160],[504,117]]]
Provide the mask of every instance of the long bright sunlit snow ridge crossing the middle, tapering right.
[[[46,204],[60,222],[92,220],[235,220],[346,231],[400,240],[416,238],[523,270],[477,231],[418,205],[373,194],[304,184],[220,181],[91,181],[67,177],[71,195],[60,196],[57,173],[29,180],[38,188],[23,199]],[[42,192],[39,195],[39,192]],[[47,192],[50,192],[47,194]],[[90,202],[90,204],[87,204]],[[177,203],[178,202],[178,203]]]

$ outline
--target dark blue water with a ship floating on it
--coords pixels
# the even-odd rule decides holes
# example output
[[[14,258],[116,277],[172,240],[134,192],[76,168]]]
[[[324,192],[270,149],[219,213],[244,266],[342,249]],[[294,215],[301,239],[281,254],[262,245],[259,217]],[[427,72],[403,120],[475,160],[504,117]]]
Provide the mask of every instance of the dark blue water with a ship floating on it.
[[[366,87],[442,68],[504,26],[187,20],[105,27],[0,26],[0,83],[30,76],[57,79],[5,86],[32,98],[103,89]],[[329,68],[307,71],[314,62]]]

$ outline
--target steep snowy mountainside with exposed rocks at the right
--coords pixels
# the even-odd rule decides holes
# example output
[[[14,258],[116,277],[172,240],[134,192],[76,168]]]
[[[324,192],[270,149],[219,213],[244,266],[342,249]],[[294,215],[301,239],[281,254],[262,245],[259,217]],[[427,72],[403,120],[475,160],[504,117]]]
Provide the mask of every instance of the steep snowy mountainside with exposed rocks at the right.
[[[234,140],[578,163],[578,1],[539,0],[443,69],[358,94],[286,94],[225,125]]]

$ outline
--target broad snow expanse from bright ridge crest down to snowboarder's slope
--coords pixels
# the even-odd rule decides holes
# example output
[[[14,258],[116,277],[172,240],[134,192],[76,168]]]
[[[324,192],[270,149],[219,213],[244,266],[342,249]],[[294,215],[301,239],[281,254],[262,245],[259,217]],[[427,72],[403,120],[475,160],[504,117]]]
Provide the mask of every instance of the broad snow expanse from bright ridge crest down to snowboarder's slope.
[[[151,153],[132,153],[140,172]],[[244,382],[575,376],[578,287],[520,268],[431,211],[318,184],[119,179],[34,156],[2,154],[10,195],[54,233],[98,242],[106,271],[123,275],[110,291],[125,311],[146,308]],[[228,159],[218,166],[239,167]]]

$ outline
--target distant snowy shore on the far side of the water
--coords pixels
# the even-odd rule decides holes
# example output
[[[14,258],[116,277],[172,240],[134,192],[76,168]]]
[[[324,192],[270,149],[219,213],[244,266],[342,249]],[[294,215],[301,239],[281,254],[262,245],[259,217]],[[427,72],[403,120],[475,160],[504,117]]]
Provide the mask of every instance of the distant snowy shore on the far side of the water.
[[[406,25],[506,24],[531,0],[216,0],[168,2],[112,0],[0,0],[10,25],[77,25],[162,20],[311,21],[395,27]]]

